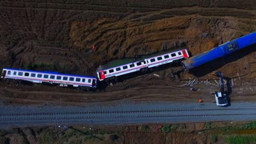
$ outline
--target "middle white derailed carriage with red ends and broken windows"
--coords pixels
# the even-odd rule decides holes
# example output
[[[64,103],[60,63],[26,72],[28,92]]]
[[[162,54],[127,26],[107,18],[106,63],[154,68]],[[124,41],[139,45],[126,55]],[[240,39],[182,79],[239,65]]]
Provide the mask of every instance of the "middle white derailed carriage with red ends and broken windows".
[[[187,49],[180,49],[162,54],[153,54],[154,56],[141,56],[136,59],[123,59],[112,61],[106,65],[97,68],[96,73],[100,81],[105,80],[109,83],[112,80],[117,81],[117,76],[130,74],[136,71],[148,71],[149,68],[158,67],[175,60],[187,59],[189,57]]]

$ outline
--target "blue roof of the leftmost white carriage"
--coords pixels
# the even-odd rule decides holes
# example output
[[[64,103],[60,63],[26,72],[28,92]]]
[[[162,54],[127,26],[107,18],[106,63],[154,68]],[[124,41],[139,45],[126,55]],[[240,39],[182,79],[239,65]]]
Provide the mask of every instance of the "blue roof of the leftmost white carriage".
[[[82,76],[82,75],[72,75],[72,74],[63,74],[63,73],[58,73],[54,71],[37,71],[37,70],[27,70],[27,69],[19,69],[19,68],[3,68],[3,69],[9,69],[9,70],[19,70],[19,71],[27,71],[27,72],[36,72],[36,73],[44,73],[44,74],[54,74],[54,75],[63,75],[63,76],[78,76],[78,77],[85,77],[85,78],[95,78],[93,76]]]

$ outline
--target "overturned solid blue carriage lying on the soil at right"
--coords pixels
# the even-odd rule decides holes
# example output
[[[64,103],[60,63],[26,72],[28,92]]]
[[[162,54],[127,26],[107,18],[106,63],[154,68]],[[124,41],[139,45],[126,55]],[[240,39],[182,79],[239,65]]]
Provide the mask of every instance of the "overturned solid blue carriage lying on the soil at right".
[[[218,47],[215,47],[209,51],[195,55],[190,59],[183,60],[181,63],[184,66],[184,69],[189,70],[203,65],[204,63],[207,63],[209,61],[218,59],[230,53],[246,48],[253,44],[256,44],[256,32],[221,44]]]

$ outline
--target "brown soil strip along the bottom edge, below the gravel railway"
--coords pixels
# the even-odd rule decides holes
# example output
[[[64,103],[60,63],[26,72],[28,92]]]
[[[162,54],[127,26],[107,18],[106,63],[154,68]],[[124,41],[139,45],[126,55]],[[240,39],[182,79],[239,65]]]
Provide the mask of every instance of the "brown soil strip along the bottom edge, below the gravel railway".
[[[157,125],[143,125],[148,129],[141,130],[142,125],[131,126],[73,126],[63,133],[64,127],[31,127],[0,130],[2,143],[83,143],[83,144],[222,144],[227,143],[223,138],[231,134],[255,134],[255,130],[224,130],[220,127],[239,127],[244,122],[214,122],[214,123],[187,123],[169,124],[176,126],[175,130],[164,132],[156,130]],[[163,125],[166,126],[166,125]],[[91,128],[91,129],[89,129]],[[219,128],[219,129],[216,129]],[[233,128],[234,129],[234,128]],[[96,137],[92,137],[95,134]],[[212,140],[212,136],[218,136]],[[114,137],[113,137],[114,136]],[[100,139],[99,139],[100,138]]]

